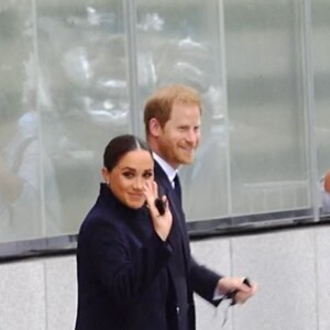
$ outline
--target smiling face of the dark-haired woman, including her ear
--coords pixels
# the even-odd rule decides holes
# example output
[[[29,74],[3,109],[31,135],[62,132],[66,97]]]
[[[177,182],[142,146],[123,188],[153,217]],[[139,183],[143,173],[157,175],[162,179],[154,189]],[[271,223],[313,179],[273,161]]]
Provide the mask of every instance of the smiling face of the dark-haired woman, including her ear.
[[[122,156],[111,172],[103,167],[102,174],[113,195],[127,207],[138,209],[145,202],[145,183],[154,179],[154,161],[150,152],[134,150]]]

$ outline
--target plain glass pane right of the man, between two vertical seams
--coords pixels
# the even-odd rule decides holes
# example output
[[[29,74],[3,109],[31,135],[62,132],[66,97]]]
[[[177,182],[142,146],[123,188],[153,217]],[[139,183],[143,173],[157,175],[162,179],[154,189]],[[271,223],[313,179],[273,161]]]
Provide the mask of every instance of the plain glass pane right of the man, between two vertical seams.
[[[310,208],[298,1],[224,1],[232,210]]]

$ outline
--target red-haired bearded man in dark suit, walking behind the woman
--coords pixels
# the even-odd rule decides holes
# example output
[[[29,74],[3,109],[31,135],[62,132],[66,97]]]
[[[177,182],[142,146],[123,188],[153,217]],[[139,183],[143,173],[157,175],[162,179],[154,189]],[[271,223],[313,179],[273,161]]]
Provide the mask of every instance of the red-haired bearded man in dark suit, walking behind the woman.
[[[199,94],[182,85],[157,90],[144,108],[146,139],[155,160],[155,180],[160,195],[167,196],[173,213],[168,241],[174,254],[168,274],[176,293],[179,330],[195,329],[194,292],[215,306],[231,292],[237,290],[234,299],[239,304],[256,292],[256,284],[249,287],[242,277],[221,276],[199,265],[190,255],[177,169],[194,161],[200,139],[200,114]]]

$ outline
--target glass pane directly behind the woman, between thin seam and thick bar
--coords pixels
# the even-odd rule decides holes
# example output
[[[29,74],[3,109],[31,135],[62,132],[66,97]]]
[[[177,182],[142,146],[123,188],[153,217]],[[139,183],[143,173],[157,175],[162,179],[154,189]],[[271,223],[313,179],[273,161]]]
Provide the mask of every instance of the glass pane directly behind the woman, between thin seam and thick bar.
[[[46,235],[72,233],[98,195],[106,144],[130,131],[123,8],[38,1],[36,13],[41,134],[55,173],[43,164],[45,216],[48,200],[62,213],[45,219]]]

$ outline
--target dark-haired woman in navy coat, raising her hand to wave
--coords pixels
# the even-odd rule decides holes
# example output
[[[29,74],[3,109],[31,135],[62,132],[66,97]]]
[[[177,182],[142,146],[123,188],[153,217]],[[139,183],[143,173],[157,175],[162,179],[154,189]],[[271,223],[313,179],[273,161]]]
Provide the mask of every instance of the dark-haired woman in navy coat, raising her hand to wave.
[[[175,330],[176,293],[167,264],[172,213],[155,207],[150,148],[133,135],[106,147],[99,197],[77,246],[76,330]]]

